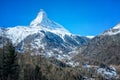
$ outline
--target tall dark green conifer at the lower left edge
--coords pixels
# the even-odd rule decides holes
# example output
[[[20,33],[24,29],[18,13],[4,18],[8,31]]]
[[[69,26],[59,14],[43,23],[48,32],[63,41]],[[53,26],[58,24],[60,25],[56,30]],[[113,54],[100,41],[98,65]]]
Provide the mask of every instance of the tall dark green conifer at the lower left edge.
[[[17,80],[18,79],[18,64],[17,54],[12,43],[8,42],[4,46],[2,55],[1,80]]]

